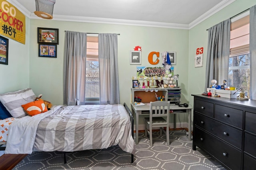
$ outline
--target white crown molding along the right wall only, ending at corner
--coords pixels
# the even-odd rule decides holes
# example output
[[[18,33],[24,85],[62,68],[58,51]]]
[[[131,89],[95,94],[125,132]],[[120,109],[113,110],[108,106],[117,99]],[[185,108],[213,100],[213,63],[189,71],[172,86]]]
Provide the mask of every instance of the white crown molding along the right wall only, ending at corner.
[[[235,1],[236,0],[223,0],[222,2],[220,2],[219,4],[214,6],[212,9],[210,9],[209,11],[204,13],[202,16],[198,17],[196,20],[194,20],[190,24],[188,24],[188,27],[189,27],[188,29],[191,29],[192,27],[198,25],[202,21],[206,20],[210,16],[213,16],[214,14],[216,14],[217,12],[219,12],[220,10],[222,10],[223,8],[232,4]]]

